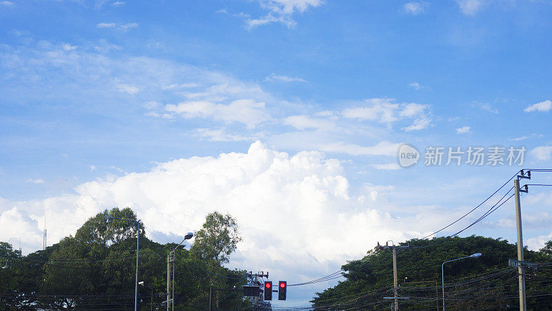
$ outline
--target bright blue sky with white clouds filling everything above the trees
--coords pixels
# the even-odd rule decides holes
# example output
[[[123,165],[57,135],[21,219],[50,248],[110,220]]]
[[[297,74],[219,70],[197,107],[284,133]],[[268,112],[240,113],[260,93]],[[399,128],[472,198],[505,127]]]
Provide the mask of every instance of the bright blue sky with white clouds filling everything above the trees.
[[[221,209],[250,239],[235,266],[286,277],[260,259],[273,254],[304,281],[375,241],[424,236],[518,169],[551,166],[551,13],[545,0],[0,1],[0,237],[32,252],[44,215],[71,220],[48,226],[55,243],[97,211],[131,205],[164,243]],[[421,152],[415,166],[397,163],[402,143]],[[522,166],[437,167],[423,163],[430,146],[527,151]],[[159,189],[137,198],[144,185]],[[173,186],[188,196],[166,193]],[[278,196],[290,206],[268,200]],[[552,238],[552,194],[526,198],[534,249]],[[253,208],[239,200],[258,218],[304,211],[272,229],[315,234],[341,219],[371,238],[282,253],[281,237],[239,218]],[[508,204],[466,233],[514,241]],[[175,213],[191,225],[163,223]]]

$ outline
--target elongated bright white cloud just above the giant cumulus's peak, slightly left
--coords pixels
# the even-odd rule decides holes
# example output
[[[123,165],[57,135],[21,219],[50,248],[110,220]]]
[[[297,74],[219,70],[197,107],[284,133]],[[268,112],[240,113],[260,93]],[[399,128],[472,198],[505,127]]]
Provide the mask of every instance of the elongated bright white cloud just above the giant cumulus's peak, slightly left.
[[[254,100],[235,100],[230,104],[215,104],[208,101],[183,102],[177,105],[167,104],[165,110],[188,119],[213,117],[226,123],[241,122],[248,128],[254,128],[257,124],[270,120],[264,102]]]

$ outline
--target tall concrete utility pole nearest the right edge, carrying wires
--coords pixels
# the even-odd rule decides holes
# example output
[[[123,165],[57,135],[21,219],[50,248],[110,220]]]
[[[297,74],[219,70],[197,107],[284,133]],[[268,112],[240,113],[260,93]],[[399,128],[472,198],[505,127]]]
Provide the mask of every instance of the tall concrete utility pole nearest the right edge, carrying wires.
[[[524,176],[523,170],[520,171],[521,175],[517,175],[517,177],[513,180],[513,189],[514,189],[514,196],[515,196],[515,224],[517,229],[517,260],[518,261],[524,261],[523,260],[523,233],[522,233],[522,209],[520,204],[520,191],[521,192],[528,192],[527,186],[525,186],[525,189],[520,189],[520,179],[526,178],[531,179],[531,172],[527,172],[528,176]],[[525,274],[524,274],[524,267],[520,263],[517,265],[517,281],[519,282],[519,290],[520,290],[520,311],[526,311],[527,310],[527,303],[525,300]]]

